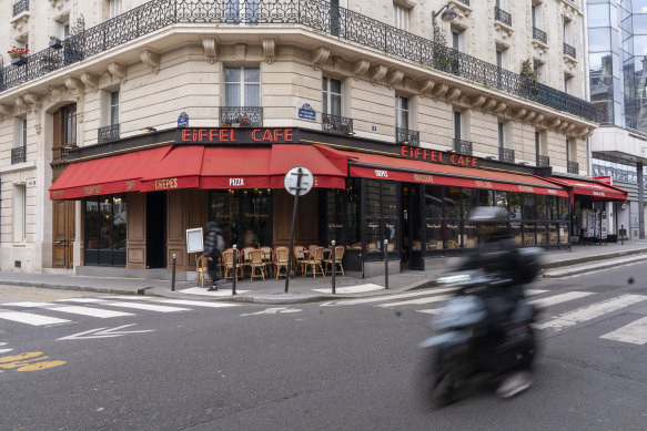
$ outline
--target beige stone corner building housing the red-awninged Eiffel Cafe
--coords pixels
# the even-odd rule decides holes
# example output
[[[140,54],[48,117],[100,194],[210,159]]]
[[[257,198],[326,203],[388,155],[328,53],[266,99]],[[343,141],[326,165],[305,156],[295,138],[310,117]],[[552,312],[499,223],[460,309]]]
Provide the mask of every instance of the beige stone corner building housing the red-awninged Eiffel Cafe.
[[[228,246],[287,245],[293,166],[314,174],[295,244],[336,240],[358,276],[383,268],[384,239],[395,270],[475,247],[476,205],[506,207],[519,244],[559,247],[579,237],[577,198],[626,198],[587,176],[578,1],[0,13],[31,51],[0,74],[2,270],[166,277],[176,255],[191,278],[185,230],[208,220]]]

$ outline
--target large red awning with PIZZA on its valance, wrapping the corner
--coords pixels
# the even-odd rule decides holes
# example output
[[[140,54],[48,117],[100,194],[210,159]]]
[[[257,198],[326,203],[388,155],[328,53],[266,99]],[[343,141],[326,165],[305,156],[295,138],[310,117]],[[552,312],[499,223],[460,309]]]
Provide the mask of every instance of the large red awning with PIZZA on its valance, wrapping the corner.
[[[179,145],[73,163],[50,187],[52,199],[176,188],[283,188],[285,173],[305,166],[314,187],[344,188],[346,157],[313,145]]]

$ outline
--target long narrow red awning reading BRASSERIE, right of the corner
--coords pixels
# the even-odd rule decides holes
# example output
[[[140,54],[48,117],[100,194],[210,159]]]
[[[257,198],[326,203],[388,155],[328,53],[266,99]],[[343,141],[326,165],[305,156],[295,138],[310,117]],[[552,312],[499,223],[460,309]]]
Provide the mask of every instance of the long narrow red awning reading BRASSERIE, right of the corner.
[[[444,165],[377,154],[333,151],[348,157],[350,176],[354,177],[568,196],[568,193],[560,186],[533,175]]]

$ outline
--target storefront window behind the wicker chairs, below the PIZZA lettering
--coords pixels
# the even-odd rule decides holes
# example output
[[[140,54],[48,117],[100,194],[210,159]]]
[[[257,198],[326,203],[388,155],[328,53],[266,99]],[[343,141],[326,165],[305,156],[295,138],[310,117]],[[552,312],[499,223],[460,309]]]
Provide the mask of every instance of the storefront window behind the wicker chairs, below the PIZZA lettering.
[[[209,219],[222,226],[226,247],[271,246],[272,189],[212,191]]]

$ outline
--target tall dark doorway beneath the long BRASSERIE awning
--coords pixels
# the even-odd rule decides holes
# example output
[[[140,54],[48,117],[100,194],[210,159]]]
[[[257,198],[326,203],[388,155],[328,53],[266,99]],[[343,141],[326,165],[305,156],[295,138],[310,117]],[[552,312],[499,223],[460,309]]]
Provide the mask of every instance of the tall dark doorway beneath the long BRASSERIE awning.
[[[423,252],[424,185],[402,184],[402,264],[408,269],[425,269]]]

